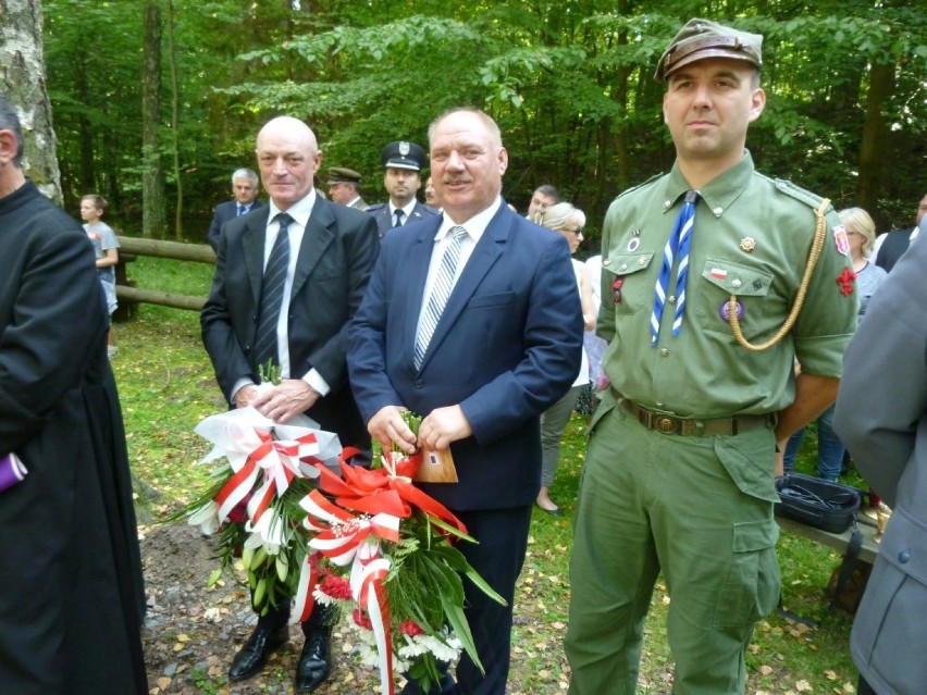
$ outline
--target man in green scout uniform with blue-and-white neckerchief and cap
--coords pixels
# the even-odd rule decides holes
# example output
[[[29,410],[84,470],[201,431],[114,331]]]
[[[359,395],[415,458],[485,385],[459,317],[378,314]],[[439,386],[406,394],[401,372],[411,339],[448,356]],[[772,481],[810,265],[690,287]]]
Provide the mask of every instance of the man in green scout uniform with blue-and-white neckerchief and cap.
[[[679,695],[742,693],[779,596],[776,445],[835,399],[856,295],[832,208],[744,149],[762,41],[705,20],[679,32],[656,73],[677,161],[605,219],[610,387],[576,519],[571,695],[633,695],[660,572]]]

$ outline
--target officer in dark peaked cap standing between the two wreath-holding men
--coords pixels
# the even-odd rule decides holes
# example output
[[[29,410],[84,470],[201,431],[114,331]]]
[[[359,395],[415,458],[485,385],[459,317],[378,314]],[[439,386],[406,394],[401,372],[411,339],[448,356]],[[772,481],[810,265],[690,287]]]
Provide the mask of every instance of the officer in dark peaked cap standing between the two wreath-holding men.
[[[380,152],[380,161],[386,167],[383,185],[390,194],[390,200],[367,209],[376,219],[380,238],[393,227],[437,214],[436,210],[423,206],[416,198],[422,186],[420,172],[428,163],[428,156],[421,147],[407,140],[390,142]]]

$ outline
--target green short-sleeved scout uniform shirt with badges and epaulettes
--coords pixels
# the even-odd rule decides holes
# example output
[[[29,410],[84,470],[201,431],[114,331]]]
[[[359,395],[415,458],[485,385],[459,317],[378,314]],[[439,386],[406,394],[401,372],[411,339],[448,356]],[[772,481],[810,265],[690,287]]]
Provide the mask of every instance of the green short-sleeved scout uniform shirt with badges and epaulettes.
[[[651,345],[663,251],[688,188],[677,164],[668,175],[626,191],[608,209],[597,333],[609,342],[602,364],[613,387],[642,406],[719,418],[778,412],[791,405],[795,359],[808,374],[839,377],[855,330],[856,291],[844,275],[852,271],[849,243],[832,209],[804,306],[781,342],[762,352],[747,350],[721,315],[734,294],[750,343],[776,334],[801,285],[814,239],[814,210],[820,204],[820,198],[755,172],[749,152],[699,191],[682,328],[672,336],[676,308],[668,299],[659,339]],[[675,275],[673,268],[670,287]],[[616,278],[620,290],[614,293]]]

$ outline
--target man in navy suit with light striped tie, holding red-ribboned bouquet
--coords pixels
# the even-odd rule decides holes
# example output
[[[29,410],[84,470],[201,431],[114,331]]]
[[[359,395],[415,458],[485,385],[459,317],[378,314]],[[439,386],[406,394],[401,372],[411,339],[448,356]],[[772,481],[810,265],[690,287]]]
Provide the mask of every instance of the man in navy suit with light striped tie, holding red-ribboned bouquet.
[[[459,548],[507,606],[466,583],[485,677],[464,654],[457,683],[445,673],[441,693],[503,695],[515,583],[541,485],[539,417],[579,372],[582,311],[566,239],[511,212],[500,196],[508,154],[493,120],[452,110],[432,123],[429,139],[444,214],[384,239],[351,323],[348,371],[368,431],[383,446],[450,448],[459,482],[421,487],[479,541]],[[444,273],[455,243],[455,271]],[[432,296],[445,275],[453,288],[434,325]],[[424,415],[418,442],[404,408]],[[404,691],[418,692],[415,683]]]

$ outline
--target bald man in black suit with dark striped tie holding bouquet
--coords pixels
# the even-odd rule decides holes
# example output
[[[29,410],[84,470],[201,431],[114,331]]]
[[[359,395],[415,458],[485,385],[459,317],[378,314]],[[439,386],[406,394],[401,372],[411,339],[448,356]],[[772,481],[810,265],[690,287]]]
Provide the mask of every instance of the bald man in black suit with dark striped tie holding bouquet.
[[[270,204],[224,226],[200,319],[215,378],[234,407],[251,406],[280,423],[305,412],[336,433],[343,446],[366,449],[369,438],[348,387],[345,351],[348,322],[379,252],[376,225],[317,195],[312,178],[322,152],[301,121],[270,121],[258,135],[257,156]],[[271,269],[280,269],[284,280],[273,283]],[[281,282],[274,308],[269,299],[279,296]],[[268,360],[280,367],[282,381],[259,389],[258,369]],[[231,680],[264,667],[288,638],[288,618],[287,599],[260,617],[232,662]],[[313,692],[329,677],[327,619],[317,609],[302,624],[297,693]]]

